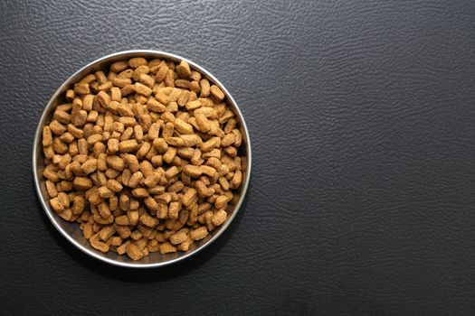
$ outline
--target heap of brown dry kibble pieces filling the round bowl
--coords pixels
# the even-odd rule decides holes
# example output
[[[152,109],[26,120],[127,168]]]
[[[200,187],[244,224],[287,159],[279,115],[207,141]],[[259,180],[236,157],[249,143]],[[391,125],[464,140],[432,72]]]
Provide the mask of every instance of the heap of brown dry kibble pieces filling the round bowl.
[[[242,184],[242,134],[223,91],[186,61],[114,62],[65,93],[43,127],[52,209],[90,246],[139,260],[188,251]]]

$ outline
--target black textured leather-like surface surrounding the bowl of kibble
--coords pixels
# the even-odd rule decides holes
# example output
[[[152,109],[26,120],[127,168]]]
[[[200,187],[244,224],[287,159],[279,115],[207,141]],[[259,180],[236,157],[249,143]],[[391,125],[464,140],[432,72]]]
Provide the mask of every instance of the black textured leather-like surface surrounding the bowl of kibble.
[[[0,1],[0,26],[0,313],[475,311],[473,1]],[[147,271],[71,246],[31,171],[54,90],[128,49],[210,70],[252,138],[233,225]]]

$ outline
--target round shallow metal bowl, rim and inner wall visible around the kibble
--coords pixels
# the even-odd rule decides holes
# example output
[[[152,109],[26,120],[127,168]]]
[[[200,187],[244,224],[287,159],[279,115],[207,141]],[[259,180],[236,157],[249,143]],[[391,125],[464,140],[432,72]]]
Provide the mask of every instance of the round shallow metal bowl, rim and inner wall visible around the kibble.
[[[62,218],[60,218],[56,213],[52,210],[49,205],[49,196],[46,191],[46,187],[44,184],[43,179],[43,169],[44,169],[44,156],[43,156],[43,145],[42,145],[42,129],[45,124],[50,122],[52,118],[52,112],[54,108],[61,103],[64,103],[65,100],[63,98],[64,92],[70,88],[75,82],[80,80],[83,76],[91,73],[92,71],[96,70],[104,70],[114,61],[118,60],[127,60],[131,57],[144,57],[147,59],[159,58],[162,60],[173,60],[173,61],[180,61],[186,60],[192,70],[197,70],[202,73],[204,78],[213,82],[216,86],[221,88],[226,96],[226,100],[228,105],[232,107],[234,114],[239,121],[239,125],[241,126],[241,133],[242,133],[242,147],[240,149],[240,153],[245,157],[242,160],[242,185],[241,189],[235,192],[235,195],[238,197],[237,202],[233,203],[228,209],[229,217],[223,226],[216,228],[213,232],[211,232],[208,237],[205,237],[203,240],[195,242],[193,246],[190,246],[190,249],[187,252],[177,252],[175,254],[166,254],[161,255],[159,253],[150,253],[149,256],[146,256],[138,261],[132,261],[128,258],[128,256],[119,256],[118,254],[109,251],[107,254],[103,254],[94,248],[92,248],[89,244],[89,241],[82,236],[82,231],[79,228],[79,224],[76,222],[68,222]],[[183,57],[177,56],[175,54],[171,54],[164,51],[147,51],[147,50],[138,50],[138,51],[119,51],[108,56],[102,57],[99,60],[94,60],[90,64],[84,66],[81,70],[78,70],[75,74],[73,74],[69,79],[67,79],[60,88],[54,92],[52,98],[46,105],[43,110],[43,115],[40,119],[38,127],[36,129],[36,134],[34,135],[34,144],[33,144],[33,179],[34,185],[36,187],[36,192],[38,193],[38,197],[42,203],[43,209],[46,212],[48,218],[51,219],[52,225],[60,231],[62,236],[66,237],[72,245],[78,247],[82,252],[85,254],[92,256],[96,259],[99,259],[103,262],[106,262],[111,265],[119,265],[125,267],[132,267],[132,268],[148,268],[148,267],[157,267],[163,265],[170,265],[176,263],[178,261],[184,260],[187,257],[195,255],[200,250],[204,249],[204,247],[211,245],[211,243],[216,240],[223,231],[229,227],[233,218],[236,216],[238,210],[241,207],[242,200],[244,199],[244,195],[246,193],[249,178],[251,175],[251,143],[249,140],[249,134],[244,122],[244,118],[242,117],[242,113],[239,110],[236,102],[234,101],[233,97],[229,91],[224,88],[223,84],[214,76],[209,73],[207,70],[204,70],[203,67],[199,66],[193,61],[187,60]]]

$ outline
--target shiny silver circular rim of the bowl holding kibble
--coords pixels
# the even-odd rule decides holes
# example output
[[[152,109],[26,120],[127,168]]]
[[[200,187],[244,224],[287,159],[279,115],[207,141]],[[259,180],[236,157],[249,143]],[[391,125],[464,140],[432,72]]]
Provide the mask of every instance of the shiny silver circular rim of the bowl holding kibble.
[[[100,63],[101,61],[113,59],[113,58],[118,58],[118,57],[124,57],[124,59],[132,58],[135,57],[134,55],[155,55],[157,58],[166,58],[170,60],[185,60],[190,64],[190,66],[194,67],[196,70],[199,70],[201,73],[206,75],[208,78],[212,79],[214,81],[214,84],[216,84],[219,88],[221,88],[224,92],[224,95],[228,99],[229,103],[231,103],[231,106],[233,107],[235,113],[239,116],[240,118],[240,124],[242,125],[242,129],[245,133],[245,146],[246,146],[246,159],[247,159],[247,170],[245,172],[245,179],[244,182],[242,183],[242,191],[241,191],[241,196],[237,203],[234,206],[233,214],[231,215],[230,218],[226,220],[226,222],[223,224],[223,226],[214,234],[213,237],[211,237],[208,241],[206,241],[203,245],[197,246],[193,251],[190,252],[185,252],[183,256],[178,256],[176,258],[173,258],[171,260],[163,261],[163,262],[157,262],[157,263],[149,263],[149,264],[138,264],[135,262],[119,262],[114,259],[111,259],[107,256],[104,256],[103,254],[95,253],[88,249],[87,247],[81,245],[74,237],[71,237],[71,235],[65,231],[61,227],[61,225],[58,223],[57,218],[54,218],[53,216],[53,211],[46,202],[45,198],[43,197],[43,192],[41,190],[40,186],[40,177],[41,174],[38,172],[37,164],[38,164],[38,159],[37,156],[39,155],[39,152],[41,153],[42,146],[41,143],[39,143],[39,139],[41,137],[42,131],[43,131],[43,125],[46,121],[47,116],[49,116],[52,112],[52,105],[55,101],[56,98],[58,98],[63,92],[66,87],[71,86],[73,81],[76,80],[76,77],[81,74],[81,72],[85,70],[89,70],[90,68],[93,68],[97,63]],[[152,56],[147,56],[147,58],[150,58]],[[247,128],[247,125],[245,123],[244,117],[242,116],[241,109],[237,105],[236,101],[234,100],[233,96],[231,93],[223,86],[221,81],[216,79],[213,74],[211,74],[208,70],[205,70],[202,66],[198,65],[192,60],[188,60],[187,58],[184,58],[182,56],[176,55],[175,53],[170,53],[166,51],[155,51],[155,50],[129,50],[129,51],[117,51],[114,53],[111,53],[109,55],[105,55],[103,57],[100,57],[99,59],[93,60],[86,64],[85,66],[81,67],[80,70],[77,70],[74,72],[68,79],[64,80],[62,85],[56,89],[56,91],[53,93],[52,98],[49,99],[48,103],[46,106],[43,108],[42,116],[40,116],[38,125],[36,127],[36,132],[34,134],[34,139],[33,139],[33,159],[32,159],[32,169],[33,169],[33,181],[34,181],[34,187],[36,194],[38,196],[38,199],[41,201],[42,207],[48,218],[50,218],[50,221],[52,222],[52,225],[54,228],[56,228],[63,237],[65,237],[72,245],[76,246],[78,249],[81,250],[81,252],[85,253],[86,255],[89,255],[93,258],[96,258],[102,262],[105,262],[109,265],[116,265],[116,266],[122,266],[122,267],[129,267],[129,268],[153,268],[153,267],[159,267],[159,266],[165,266],[165,265],[172,265],[177,262],[180,262],[182,260],[185,260],[186,258],[189,258],[191,256],[194,256],[201,250],[203,250],[205,247],[211,245],[214,240],[216,240],[218,237],[220,237],[224,230],[226,230],[232,223],[233,219],[236,217],[236,214],[238,213],[239,209],[241,209],[242,206],[242,201],[244,200],[244,197],[246,195],[246,191],[249,186],[249,181],[251,177],[251,169],[252,169],[252,150],[251,150],[251,139],[249,135],[249,130]],[[60,218],[61,219],[61,218]]]

